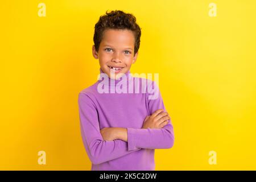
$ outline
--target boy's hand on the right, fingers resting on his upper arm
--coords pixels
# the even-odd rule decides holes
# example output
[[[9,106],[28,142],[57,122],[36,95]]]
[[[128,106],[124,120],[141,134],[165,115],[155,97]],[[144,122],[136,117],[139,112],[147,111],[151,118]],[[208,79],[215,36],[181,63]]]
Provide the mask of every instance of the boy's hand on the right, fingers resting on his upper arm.
[[[142,129],[160,129],[168,124],[170,119],[167,112],[163,112],[163,109],[156,110],[152,115],[148,115],[143,122]]]

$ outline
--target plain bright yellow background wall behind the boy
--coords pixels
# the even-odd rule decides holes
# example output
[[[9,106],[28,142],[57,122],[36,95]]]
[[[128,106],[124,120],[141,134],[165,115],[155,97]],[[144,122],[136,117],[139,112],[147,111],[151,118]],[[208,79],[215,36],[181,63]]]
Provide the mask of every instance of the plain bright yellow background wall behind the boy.
[[[255,9],[255,1],[1,1],[0,169],[90,170],[78,93],[99,73],[94,24],[123,10],[142,27],[131,73],[159,73],[174,124],[174,147],[155,151],[156,170],[255,170]]]

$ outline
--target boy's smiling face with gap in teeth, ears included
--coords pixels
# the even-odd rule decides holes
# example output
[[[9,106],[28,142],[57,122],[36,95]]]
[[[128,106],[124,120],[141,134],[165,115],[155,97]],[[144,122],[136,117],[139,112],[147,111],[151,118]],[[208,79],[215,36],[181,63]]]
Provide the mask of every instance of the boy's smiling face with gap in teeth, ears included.
[[[134,55],[134,43],[131,30],[105,30],[98,52],[93,45],[93,57],[99,59],[104,73],[110,78],[118,78],[117,74],[129,71],[131,64],[137,60],[138,52]]]

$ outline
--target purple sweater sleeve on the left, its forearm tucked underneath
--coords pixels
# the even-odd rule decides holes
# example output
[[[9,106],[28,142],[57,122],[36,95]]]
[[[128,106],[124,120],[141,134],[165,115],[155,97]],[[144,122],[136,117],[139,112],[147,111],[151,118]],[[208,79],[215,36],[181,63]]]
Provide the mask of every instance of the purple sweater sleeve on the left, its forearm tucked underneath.
[[[119,139],[105,141],[100,133],[96,106],[85,93],[79,93],[79,117],[82,141],[93,164],[117,159],[141,149],[136,148],[128,151],[127,142]]]

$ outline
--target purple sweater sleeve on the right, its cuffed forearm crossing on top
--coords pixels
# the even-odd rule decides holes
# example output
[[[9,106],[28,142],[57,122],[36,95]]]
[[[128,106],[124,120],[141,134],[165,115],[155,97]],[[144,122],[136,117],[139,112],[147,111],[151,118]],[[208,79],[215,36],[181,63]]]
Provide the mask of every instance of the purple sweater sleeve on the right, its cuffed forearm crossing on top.
[[[156,83],[154,81],[152,82],[156,88],[154,90],[156,90],[155,94],[157,94],[157,96],[154,96],[154,98],[147,94],[150,115],[158,109],[164,109],[166,112],[160,90]],[[171,148],[174,145],[174,129],[171,119],[169,119],[168,124],[161,129],[127,128],[127,143],[129,151],[135,150],[136,148]]]

